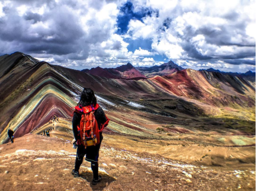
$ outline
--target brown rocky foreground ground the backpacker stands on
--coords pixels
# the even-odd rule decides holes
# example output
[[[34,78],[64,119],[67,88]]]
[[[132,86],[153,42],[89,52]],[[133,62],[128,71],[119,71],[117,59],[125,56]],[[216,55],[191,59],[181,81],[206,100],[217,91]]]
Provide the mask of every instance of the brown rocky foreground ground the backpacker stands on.
[[[0,145],[0,190],[255,190],[250,168],[207,167],[134,152],[102,143],[99,174],[92,185],[90,163],[71,175],[76,150],[69,140],[25,135]]]

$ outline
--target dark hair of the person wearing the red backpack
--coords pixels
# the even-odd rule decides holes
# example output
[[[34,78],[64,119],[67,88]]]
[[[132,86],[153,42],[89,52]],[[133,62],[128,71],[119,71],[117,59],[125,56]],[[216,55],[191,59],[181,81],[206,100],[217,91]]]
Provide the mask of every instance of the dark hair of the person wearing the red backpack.
[[[81,105],[82,107],[87,105],[93,105],[95,106],[97,103],[97,99],[94,95],[94,92],[91,88],[84,88],[84,90],[81,93],[80,101],[77,105]]]

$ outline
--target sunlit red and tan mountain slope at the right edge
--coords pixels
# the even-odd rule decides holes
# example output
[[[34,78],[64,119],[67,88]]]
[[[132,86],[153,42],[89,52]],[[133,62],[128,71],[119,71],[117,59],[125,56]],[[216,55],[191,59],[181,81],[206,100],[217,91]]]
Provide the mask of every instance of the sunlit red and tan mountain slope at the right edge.
[[[186,69],[150,80],[169,94],[213,107],[255,108],[255,87],[240,77]]]

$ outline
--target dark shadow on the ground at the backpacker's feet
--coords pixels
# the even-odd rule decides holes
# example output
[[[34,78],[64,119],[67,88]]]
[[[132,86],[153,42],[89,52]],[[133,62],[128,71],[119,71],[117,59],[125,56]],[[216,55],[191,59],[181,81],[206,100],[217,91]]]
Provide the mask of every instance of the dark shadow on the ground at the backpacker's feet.
[[[90,187],[93,190],[103,190],[105,187],[110,185],[111,182],[116,180],[113,177],[109,176],[108,174],[100,174],[100,175],[102,176],[102,180],[96,185],[92,184],[92,177],[93,177],[92,172],[83,171],[81,172],[80,177],[86,180],[87,182],[90,182]]]

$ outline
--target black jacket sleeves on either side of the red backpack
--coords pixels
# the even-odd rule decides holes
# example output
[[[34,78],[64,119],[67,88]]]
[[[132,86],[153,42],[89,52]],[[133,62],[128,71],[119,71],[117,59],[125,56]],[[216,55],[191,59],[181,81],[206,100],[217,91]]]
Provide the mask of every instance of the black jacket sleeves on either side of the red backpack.
[[[103,111],[103,109],[101,107],[99,107],[98,109],[96,109],[94,111],[94,115],[96,118],[96,121],[98,123],[98,126],[100,128],[101,125],[103,125],[106,121],[107,121],[107,117],[105,115],[105,112]],[[80,121],[81,121],[81,114],[74,112],[73,115],[73,120],[72,120],[72,128],[73,128],[73,134],[76,140],[79,140],[79,133],[77,130],[77,125],[80,125]],[[100,138],[102,139],[102,132],[100,132]]]

